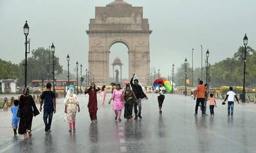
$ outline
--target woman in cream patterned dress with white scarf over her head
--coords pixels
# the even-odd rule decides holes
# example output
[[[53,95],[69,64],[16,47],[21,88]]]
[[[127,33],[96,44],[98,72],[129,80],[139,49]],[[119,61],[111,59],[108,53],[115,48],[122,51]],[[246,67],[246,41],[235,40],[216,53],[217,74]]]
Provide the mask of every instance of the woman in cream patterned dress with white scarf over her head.
[[[76,94],[74,94],[74,89],[71,87],[67,91],[67,96],[65,98],[65,121],[68,122],[69,125],[69,132],[72,131],[72,124],[73,124],[73,131],[76,131],[76,112],[80,112],[80,106],[77,99]]]

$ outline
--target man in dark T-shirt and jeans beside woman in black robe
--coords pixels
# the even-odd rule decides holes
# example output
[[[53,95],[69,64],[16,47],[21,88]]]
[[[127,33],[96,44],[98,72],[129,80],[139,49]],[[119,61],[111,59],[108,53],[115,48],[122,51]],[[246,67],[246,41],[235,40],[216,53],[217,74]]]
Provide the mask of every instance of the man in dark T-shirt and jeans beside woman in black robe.
[[[51,91],[51,84],[47,83],[46,91],[41,95],[40,112],[42,111],[42,105],[44,103],[44,124],[45,132],[51,132],[52,115],[56,113],[56,99],[55,92]]]

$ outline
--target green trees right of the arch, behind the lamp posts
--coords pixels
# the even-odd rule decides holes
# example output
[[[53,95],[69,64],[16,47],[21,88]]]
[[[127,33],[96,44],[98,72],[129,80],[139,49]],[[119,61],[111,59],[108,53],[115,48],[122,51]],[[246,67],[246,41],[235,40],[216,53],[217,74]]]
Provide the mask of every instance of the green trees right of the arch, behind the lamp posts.
[[[256,52],[252,47],[246,47],[246,87],[256,87]],[[220,86],[243,86],[243,61],[244,47],[239,47],[232,57],[211,64],[209,66],[209,84],[212,87]],[[187,75],[192,84],[192,69],[187,64]],[[194,87],[201,80],[201,68],[194,69]],[[203,68],[203,79],[206,80],[206,69]],[[181,64],[174,77],[174,83],[177,86],[185,86],[185,64]]]

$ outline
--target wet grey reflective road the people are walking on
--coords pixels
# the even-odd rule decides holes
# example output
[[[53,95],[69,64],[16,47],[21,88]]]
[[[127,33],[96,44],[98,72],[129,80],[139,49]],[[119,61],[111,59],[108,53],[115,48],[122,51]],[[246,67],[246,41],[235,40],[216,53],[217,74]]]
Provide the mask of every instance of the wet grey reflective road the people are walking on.
[[[215,117],[195,117],[195,101],[190,97],[167,95],[161,115],[156,95],[148,97],[143,102],[142,120],[127,122],[122,112],[122,122],[115,122],[111,106],[105,105],[99,106],[99,122],[91,124],[88,98],[82,96],[76,133],[68,132],[64,113],[59,113],[51,133],[37,126],[31,138],[12,138],[1,144],[0,152],[256,152],[255,104],[235,103],[231,118],[227,105],[218,101]],[[64,110],[61,107],[59,104],[59,111]]]

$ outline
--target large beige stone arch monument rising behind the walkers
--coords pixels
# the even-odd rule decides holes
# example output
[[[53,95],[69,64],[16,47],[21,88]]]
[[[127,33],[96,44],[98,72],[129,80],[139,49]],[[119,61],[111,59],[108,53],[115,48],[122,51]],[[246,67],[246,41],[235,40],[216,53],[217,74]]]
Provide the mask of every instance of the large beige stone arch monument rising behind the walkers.
[[[124,43],[129,50],[129,78],[135,73],[142,85],[147,84],[152,31],[148,19],[143,18],[143,7],[122,0],[96,7],[95,18],[90,19],[86,33],[89,35],[89,71],[95,75],[97,85],[109,84],[109,50],[115,43]]]

